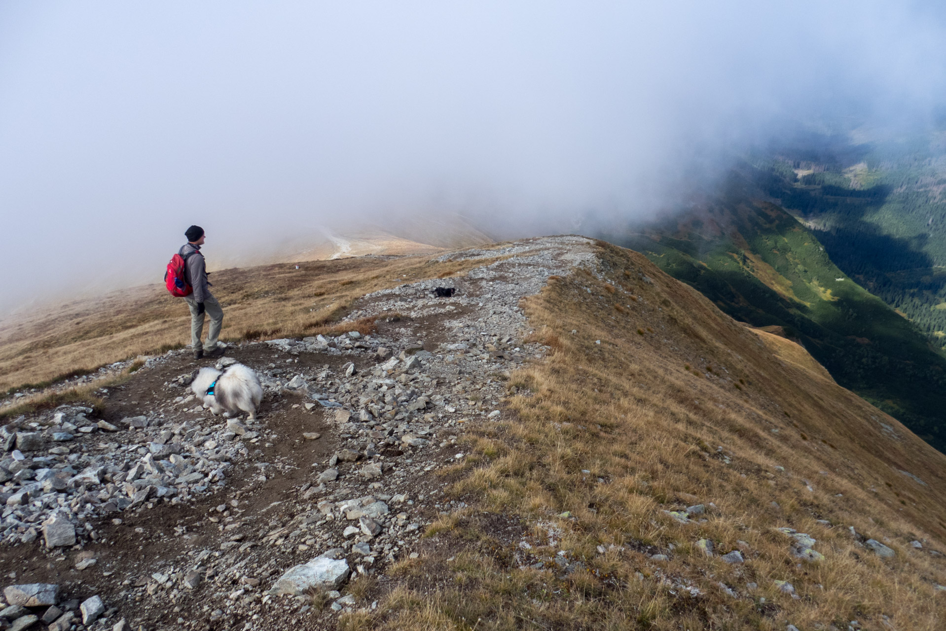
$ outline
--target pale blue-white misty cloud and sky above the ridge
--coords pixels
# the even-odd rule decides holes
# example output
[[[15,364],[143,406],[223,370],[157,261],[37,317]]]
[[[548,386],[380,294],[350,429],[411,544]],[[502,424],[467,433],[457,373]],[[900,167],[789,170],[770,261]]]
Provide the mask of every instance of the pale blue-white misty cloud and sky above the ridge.
[[[464,212],[646,216],[793,125],[924,120],[936,5],[0,3],[0,310],[205,252]]]

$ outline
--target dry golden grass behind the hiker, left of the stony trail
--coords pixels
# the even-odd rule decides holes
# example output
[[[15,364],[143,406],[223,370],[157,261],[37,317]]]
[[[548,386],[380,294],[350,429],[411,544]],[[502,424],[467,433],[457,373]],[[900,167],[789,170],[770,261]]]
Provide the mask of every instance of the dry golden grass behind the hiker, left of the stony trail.
[[[431,262],[429,256],[308,261],[214,272],[223,306],[220,339],[272,339],[342,332],[333,326],[365,293],[419,278],[461,274],[481,262]],[[50,308],[0,327],[0,392],[96,370],[190,342],[184,300],[163,286],[128,289]],[[367,333],[371,324],[359,323]],[[205,330],[206,332],[206,330]]]

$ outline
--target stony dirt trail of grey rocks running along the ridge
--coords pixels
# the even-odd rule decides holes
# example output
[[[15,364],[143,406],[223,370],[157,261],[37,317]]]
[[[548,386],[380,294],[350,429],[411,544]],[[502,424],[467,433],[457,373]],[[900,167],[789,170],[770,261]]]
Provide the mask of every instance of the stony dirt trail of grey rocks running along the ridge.
[[[442,499],[435,475],[464,458],[464,428],[501,414],[509,371],[545,353],[524,342],[518,301],[592,259],[582,237],[438,258],[496,256],[506,258],[463,277],[365,296],[348,319],[375,318],[371,335],[228,348],[223,363],[245,363],[264,385],[255,422],[228,427],[190,398],[191,371],[212,361],[186,351],[150,359],[105,394],[100,416],[63,407],[19,419],[8,433],[41,445],[0,461],[3,586],[58,584],[64,610],[98,595],[107,610],[90,628],[103,629],[120,619],[146,629],[334,628],[339,611],[372,607],[393,585],[388,567],[431,545],[420,540],[429,522],[464,508]],[[438,286],[456,295],[433,298]],[[63,433],[71,438],[53,440]],[[73,525],[77,545],[45,547],[53,515]],[[351,572],[340,593],[267,593],[323,554]]]

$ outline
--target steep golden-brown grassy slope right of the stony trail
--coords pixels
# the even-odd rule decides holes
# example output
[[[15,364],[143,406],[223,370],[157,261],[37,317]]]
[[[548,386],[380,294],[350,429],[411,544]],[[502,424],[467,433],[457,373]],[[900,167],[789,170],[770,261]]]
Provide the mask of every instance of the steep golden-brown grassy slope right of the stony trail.
[[[946,457],[797,344],[735,323],[640,254],[601,244],[601,257],[600,277],[552,277],[526,301],[554,352],[512,376],[514,417],[467,437],[464,464],[441,471],[471,507],[435,523],[377,612],[342,628],[881,629],[883,616],[940,628],[932,584],[946,567],[907,542],[942,545]],[[663,512],[697,501],[715,504],[705,523]],[[799,562],[783,526],[825,559]],[[748,560],[707,557],[700,538]],[[559,552],[578,565],[558,569]]]

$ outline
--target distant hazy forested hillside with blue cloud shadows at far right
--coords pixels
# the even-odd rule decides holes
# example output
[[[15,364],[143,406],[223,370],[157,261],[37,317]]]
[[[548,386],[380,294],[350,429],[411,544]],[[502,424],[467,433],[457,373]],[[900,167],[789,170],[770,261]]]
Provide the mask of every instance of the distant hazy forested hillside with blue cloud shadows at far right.
[[[820,139],[756,161],[765,196],[832,261],[946,345],[946,133],[853,145]]]

